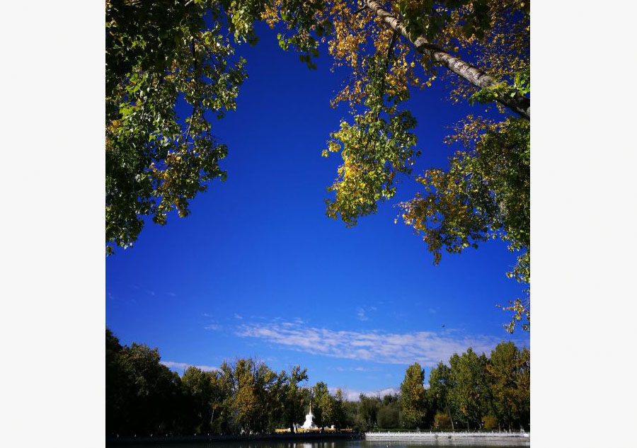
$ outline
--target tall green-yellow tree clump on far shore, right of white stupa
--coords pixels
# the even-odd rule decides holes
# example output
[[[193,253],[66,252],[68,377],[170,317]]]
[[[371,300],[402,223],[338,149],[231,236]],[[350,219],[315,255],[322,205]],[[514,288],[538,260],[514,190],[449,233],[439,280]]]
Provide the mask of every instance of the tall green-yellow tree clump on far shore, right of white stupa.
[[[420,365],[409,366],[401,384],[404,427],[529,430],[530,355],[512,342],[498,344],[490,357],[471,348],[454,353],[449,365],[431,370],[429,389]]]

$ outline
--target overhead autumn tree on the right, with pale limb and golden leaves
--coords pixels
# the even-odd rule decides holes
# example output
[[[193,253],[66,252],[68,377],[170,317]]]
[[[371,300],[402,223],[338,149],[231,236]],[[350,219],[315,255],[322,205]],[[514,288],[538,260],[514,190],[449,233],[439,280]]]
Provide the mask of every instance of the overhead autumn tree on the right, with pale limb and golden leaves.
[[[423,234],[435,264],[442,250],[460,253],[488,239],[508,241],[520,252],[508,275],[529,282],[529,11],[529,1],[522,0],[276,0],[266,7],[271,26],[287,25],[283,48],[304,53],[302,61],[312,67],[319,42],[326,40],[335,66],[350,69],[333,105],[348,103],[352,120],[342,120],[323,151],[343,158],[328,189],[328,216],[352,226],[394,197],[396,176],[411,174],[420,154],[415,118],[401,104],[411,90],[442,74],[454,101],[496,104],[513,115],[500,121],[466,117],[455,136],[464,138],[464,151],[448,169],[418,177],[425,195],[403,202],[401,217]],[[459,54],[474,54],[475,63]],[[523,328],[529,328],[528,294],[505,309],[514,313],[509,331],[524,318]]]

